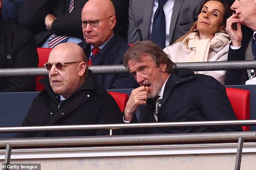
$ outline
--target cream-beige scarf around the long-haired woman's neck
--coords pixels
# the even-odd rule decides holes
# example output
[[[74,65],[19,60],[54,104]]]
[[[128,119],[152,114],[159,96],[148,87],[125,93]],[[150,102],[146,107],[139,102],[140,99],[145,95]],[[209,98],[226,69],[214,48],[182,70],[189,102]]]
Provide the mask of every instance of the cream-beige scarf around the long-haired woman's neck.
[[[183,49],[189,53],[184,62],[208,61],[210,48],[220,51],[230,43],[231,40],[227,33],[216,33],[213,39],[199,39],[197,33],[191,33],[182,41]]]

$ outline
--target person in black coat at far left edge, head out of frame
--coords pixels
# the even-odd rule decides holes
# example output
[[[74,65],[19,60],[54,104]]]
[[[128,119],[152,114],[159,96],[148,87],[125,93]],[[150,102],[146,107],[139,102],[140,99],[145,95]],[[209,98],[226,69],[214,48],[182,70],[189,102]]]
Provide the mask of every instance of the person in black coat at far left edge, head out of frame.
[[[38,66],[34,35],[23,27],[5,23],[0,0],[0,68],[28,68]],[[0,77],[0,92],[34,91],[36,79],[25,77]]]

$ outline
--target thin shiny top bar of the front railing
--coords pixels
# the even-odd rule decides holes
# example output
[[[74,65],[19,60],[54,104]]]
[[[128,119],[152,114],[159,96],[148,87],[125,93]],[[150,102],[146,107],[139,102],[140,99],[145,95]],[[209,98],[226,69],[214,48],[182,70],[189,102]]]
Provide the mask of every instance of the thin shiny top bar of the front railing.
[[[201,126],[231,126],[231,125],[240,125],[240,126],[256,125],[256,120],[0,127],[0,133],[15,133],[15,132],[24,132],[24,131],[61,131],[61,130],[159,128],[159,127],[201,127]]]

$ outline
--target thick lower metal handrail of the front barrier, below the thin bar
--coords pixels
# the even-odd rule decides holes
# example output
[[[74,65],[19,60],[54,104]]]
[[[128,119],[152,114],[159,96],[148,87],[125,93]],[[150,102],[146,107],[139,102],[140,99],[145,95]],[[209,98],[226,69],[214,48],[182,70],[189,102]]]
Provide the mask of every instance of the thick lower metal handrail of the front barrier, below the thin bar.
[[[246,132],[214,132],[214,133],[176,133],[155,135],[116,135],[116,136],[87,136],[87,137],[36,137],[0,139],[0,147],[6,145],[33,146],[78,146],[78,145],[139,145],[163,143],[198,143],[198,142],[237,142],[238,137],[244,140],[256,140],[255,131]]]

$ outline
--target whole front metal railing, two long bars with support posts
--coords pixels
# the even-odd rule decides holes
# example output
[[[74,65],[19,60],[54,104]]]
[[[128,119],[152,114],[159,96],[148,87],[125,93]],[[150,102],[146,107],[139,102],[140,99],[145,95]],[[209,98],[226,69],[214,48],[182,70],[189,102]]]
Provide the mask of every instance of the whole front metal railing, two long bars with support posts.
[[[52,131],[52,130],[89,130],[110,129],[109,136],[94,137],[50,137],[50,138],[15,138],[0,139],[0,147],[6,146],[4,164],[10,164],[10,155],[13,146],[67,146],[67,145],[138,145],[145,143],[163,144],[175,142],[209,142],[209,141],[237,141],[235,170],[240,170],[244,140],[256,140],[256,132],[215,132],[215,133],[184,133],[158,135],[116,135],[111,136],[112,129],[124,128],[157,128],[157,127],[194,127],[194,126],[231,126],[256,125],[256,120],[236,121],[196,121],[172,123],[134,123],[134,124],[107,124],[107,125],[59,125],[37,127],[1,127],[0,133],[22,131]]]

